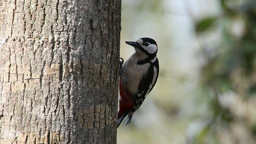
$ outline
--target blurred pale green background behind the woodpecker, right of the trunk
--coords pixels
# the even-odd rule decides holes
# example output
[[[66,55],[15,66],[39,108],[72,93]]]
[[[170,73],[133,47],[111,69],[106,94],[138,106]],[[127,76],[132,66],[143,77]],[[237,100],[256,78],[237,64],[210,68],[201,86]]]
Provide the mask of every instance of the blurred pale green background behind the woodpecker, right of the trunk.
[[[256,144],[256,0],[122,0],[124,60],[142,37],[160,75],[118,144]]]

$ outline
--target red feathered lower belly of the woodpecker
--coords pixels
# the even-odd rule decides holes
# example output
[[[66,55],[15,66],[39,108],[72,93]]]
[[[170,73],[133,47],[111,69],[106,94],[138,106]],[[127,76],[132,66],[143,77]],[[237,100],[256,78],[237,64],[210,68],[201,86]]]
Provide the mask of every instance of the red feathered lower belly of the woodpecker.
[[[124,112],[127,110],[132,110],[134,106],[133,97],[127,90],[124,88],[122,84],[122,77],[119,78],[119,91],[120,91],[120,99],[119,99],[119,112],[118,118],[121,118]]]

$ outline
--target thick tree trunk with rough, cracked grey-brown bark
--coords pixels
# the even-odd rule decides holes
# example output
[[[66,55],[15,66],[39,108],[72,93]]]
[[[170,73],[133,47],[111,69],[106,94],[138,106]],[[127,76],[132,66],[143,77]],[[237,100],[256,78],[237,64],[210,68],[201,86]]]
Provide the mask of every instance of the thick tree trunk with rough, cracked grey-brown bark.
[[[0,0],[0,143],[114,144],[120,0]]]

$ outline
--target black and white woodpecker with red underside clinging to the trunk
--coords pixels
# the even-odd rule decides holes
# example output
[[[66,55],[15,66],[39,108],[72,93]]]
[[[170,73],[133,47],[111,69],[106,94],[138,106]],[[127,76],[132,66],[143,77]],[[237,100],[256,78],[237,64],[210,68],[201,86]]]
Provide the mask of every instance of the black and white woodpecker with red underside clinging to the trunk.
[[[155,86],[159,73],[156,57],[158,46],[155,40],[140,38],[136,42],[126,42],[126,44],[133,46],[135,53],[122,66],[122,76],[119,78],[117,127],[127,115],[125,126],[130,123],[134,112],[140,108]]]

